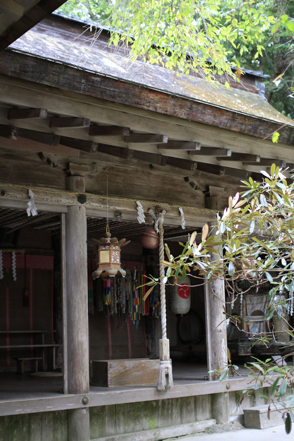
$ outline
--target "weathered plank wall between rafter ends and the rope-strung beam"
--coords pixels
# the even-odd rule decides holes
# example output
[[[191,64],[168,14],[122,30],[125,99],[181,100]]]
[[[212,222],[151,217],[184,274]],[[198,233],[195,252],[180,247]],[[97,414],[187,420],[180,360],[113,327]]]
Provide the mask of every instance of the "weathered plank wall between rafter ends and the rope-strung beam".
[[[5,140],[6,141],[6,140]],[[10,141],[10,140],[9,140]],[[1,146],[3,148],[1,148]],[[40,151],[11,149],[8,143],[0,140],[0,176],[1,181],[26,186],[45,186],[65,190],[65,178],[69,164],[74,163],[84,173],[83,166],[88,166],[86,173],[86,191],[106,196],[106,176],[108,175],[109,196],[132,199],[149,199],[158,203],[172,203],[194,207],[205,206],[204,191],[209,185],[225,188],[235,193],[240,185],[237,178],[214,176],[205,172],[195,173],[172,166],[159,166],[140,160],[127,160],[97,153],[79,152],[79,157],[56,153],[56,148],[39,145]],[[41,150],[42,149],[42,150]],[[50,150],[50,153],[48,152]],[[59,148],[60,150],[60,148]],[[59,151],[58,150],[58,151]],[[74,150],[76,154],[76,150]],[[88,170],[87,169],[87,170]],[[199,184],[194,190],[190,181]]]

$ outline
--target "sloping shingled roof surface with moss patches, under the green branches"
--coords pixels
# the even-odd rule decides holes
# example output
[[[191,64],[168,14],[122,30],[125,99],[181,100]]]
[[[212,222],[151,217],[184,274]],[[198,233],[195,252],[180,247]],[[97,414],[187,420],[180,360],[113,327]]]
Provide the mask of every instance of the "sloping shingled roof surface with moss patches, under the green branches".
[[[227,89],[201,77],[179,74],[159,65],[132,62],[125,49],[108,47],[107,35],[84,24],[51,16],[14,42],[10,49],[45,57],[78,69],[111,76],[150,89],[190,98],[223,109],[234,110],[268,121],[294,122],[275,110],[265,99],[249,90]],[[52,32],[53,30],[53,32]],[[246,86],[245,86],[246,87]]]

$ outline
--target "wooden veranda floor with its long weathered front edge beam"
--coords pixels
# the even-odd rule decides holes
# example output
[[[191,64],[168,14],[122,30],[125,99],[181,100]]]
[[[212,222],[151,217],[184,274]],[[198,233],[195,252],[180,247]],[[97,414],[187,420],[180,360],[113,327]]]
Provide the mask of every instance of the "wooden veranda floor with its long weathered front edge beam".
[[[205,365],[173,363],[174,387],[158,392],[156,384],[148,386],[115,387],[90,386],[90,406],[103,406],[136,401],[150,401],[208,393],[240,391],[247,387],[245,369],[243,376],[229,377],[224,381],[207,381]],[[49,410],[83,407],[84,396],[63,394],[62,377],[32,377],[28,373],[0,372],[0,416]]]

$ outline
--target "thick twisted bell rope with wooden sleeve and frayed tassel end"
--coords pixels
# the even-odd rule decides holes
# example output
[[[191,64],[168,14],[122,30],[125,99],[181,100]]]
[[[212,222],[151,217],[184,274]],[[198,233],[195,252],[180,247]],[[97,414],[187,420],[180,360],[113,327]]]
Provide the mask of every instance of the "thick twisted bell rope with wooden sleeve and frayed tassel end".
[[[159,369],[158,369],[158,391],[166,391],[172,388],[172,360],[170,359],[170,341],[167,338],[167,310],[165,297],[165,284],[162,280],[165,276],[164,266],[161,261],[164,260],[164,244],[163,244],[163,217],[166,211],[163,210],[158,217],[159,229],[159,276],[160,276],[160,306],[161,306],[161,331],[162,339],[159,340]]]

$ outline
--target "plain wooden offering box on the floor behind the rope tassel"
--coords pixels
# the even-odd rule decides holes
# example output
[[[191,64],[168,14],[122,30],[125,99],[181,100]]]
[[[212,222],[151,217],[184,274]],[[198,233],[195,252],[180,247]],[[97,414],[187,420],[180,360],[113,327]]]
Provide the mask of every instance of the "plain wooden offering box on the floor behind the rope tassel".
[[[91,361],[91,384],[97,386],[137,386],[156,384],[159,360],[136,358]]]

